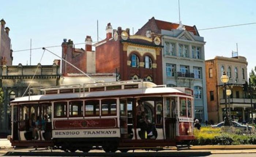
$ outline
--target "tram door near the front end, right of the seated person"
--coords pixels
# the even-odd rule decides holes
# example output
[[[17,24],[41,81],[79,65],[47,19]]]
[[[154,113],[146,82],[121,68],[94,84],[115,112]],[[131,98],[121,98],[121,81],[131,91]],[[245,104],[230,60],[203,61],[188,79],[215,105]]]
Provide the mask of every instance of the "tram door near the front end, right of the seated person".
[[[165,99],[165,137],[175,139],[176,137],[176,97],[166,97]]]

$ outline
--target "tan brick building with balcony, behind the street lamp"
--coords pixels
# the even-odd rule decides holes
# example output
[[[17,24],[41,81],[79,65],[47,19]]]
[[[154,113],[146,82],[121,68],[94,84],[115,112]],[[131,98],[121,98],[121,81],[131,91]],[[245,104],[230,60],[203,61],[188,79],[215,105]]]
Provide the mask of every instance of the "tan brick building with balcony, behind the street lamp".
[[[225,72],[229,76],[228,87],[231,90],[231,95],[227,97],[227,107],[230,106],[231,110],[230,117],[238,122],[249,122],[251,100],[242,86],[247,81],[246,58],[216,56],[212,60],[206,60],[205,65],[209,120],[215,123],[224,120],[225,99],[221,76]],[[255,99],[252,101],[255,103]]]

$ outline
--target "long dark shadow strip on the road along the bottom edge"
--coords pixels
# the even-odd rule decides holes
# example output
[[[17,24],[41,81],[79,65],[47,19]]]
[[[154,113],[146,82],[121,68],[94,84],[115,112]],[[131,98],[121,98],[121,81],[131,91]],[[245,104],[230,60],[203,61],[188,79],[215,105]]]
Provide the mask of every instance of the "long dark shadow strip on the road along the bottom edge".
[[[133,153],[80,153],[80,152],[7,152],[4,156],[86,156],[86,157],[195,157],[209,156],[211,152],[133,152]]]

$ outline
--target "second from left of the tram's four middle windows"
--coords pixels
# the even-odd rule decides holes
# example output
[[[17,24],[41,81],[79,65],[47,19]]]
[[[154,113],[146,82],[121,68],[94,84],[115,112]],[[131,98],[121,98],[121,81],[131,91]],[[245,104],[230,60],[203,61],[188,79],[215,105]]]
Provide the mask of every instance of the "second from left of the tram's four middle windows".
[[[70,117],[83,116],[82,101],[69,102],[69,116]]]

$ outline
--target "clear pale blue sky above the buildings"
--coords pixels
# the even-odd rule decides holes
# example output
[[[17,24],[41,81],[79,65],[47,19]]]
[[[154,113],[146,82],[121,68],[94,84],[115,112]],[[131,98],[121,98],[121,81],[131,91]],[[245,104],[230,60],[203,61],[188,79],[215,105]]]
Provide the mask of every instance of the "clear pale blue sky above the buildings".
[[[181,20],[197,29],[256,22],[255,0],[180,0]],[[61,45],[63,38],[82,43],[86,35],[97,41],[105,39],[106,24],[114,29],[134,28],[136,32],[148,19],[178,22],[178,0],[2,0],[0,19],[10,28],[12,49]],[[199,31],[206,41],[206,59],[216,55],[231,57],[231,51],[245,56],[248,72],[256,65],[256,24]],[[84,45],[77,45],[84,48]],[[61,55],[61,47],[50,48]],[[42,50],[33,50],[31,64],[39,62]],[[30,52],[14,52],[13,65],[30,64]],[[52,64],[56,57],[45,53],[42,64]],[[249,75],[249,73],[248,73]]]

